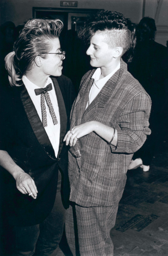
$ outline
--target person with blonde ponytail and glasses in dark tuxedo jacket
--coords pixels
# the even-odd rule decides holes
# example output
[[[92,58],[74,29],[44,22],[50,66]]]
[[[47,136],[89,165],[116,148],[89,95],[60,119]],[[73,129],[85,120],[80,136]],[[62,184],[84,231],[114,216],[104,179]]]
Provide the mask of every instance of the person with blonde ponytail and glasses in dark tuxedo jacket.
[[[0,166],[11,174],[5,204],[13,256],[57,255],[69,207],[63,137],[75,94],[61,73],[62,28],[59,19],[29,20],[5,57],[14,93],[1,106]]]

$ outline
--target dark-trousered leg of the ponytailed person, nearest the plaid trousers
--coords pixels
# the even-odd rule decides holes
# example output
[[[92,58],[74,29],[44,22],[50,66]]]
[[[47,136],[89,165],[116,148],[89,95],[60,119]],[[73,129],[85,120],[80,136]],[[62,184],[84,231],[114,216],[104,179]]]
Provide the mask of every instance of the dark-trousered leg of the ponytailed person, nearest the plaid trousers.
[[[61,173],[58,174],[57,194],[53,209],[49,216],[39,224],[40,235],[36,244],[35,255],[55,256],[61,240],[66,210],[61,200]]]

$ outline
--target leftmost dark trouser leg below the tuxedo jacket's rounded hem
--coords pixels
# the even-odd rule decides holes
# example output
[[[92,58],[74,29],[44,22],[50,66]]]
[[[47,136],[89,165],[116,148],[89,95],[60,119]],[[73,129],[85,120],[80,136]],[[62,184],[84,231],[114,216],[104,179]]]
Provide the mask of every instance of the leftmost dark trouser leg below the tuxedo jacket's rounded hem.
[[[39,236],[39,225],[14,227],[14,248],[12,256],[32,256]]]

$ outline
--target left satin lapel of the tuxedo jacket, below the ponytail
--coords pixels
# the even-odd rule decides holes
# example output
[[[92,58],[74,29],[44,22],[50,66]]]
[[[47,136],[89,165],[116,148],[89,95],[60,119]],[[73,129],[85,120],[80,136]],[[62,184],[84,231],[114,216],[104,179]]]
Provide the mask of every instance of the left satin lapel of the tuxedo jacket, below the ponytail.
[[[49,157],[55,160],[56,157],[55,157],[52,144],[48,138],[48,135],[46,134],[44,127],[42,126],[40,117],[38,116],[36,108],[25,88],[25,85],[22,86],[22,89],[20,92],[20,98],[21,98],[24,110],[26,112],[27,118],[29,119],[29,122],[32,126],[32,129],[36,135],[38,142],[41,144],[46,154],[48,154]]]

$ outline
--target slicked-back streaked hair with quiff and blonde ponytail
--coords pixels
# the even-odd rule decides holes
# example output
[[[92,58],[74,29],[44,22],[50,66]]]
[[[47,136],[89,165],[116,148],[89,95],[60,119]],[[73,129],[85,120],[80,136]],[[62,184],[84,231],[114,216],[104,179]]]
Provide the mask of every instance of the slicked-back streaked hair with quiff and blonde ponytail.
[[[35,57],[46,58],[51,51],[51,40],[59,38],[63,28],[61,20],[32,19],[21,30],[14,43],[14,51],[6,55],[5,67],[11,86],[22,85],[22,76],[30,70]]]

